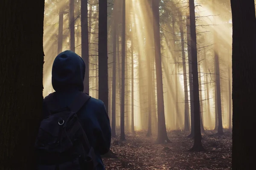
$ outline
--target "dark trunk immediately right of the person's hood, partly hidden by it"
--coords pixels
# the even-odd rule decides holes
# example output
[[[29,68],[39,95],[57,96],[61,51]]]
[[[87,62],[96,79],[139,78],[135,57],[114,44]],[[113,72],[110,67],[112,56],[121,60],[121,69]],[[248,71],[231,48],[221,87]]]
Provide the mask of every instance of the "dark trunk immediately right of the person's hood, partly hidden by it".
[[[89,39],[87,0],[81,0],[81,53],[85,62],[84,92],[89,94]]]

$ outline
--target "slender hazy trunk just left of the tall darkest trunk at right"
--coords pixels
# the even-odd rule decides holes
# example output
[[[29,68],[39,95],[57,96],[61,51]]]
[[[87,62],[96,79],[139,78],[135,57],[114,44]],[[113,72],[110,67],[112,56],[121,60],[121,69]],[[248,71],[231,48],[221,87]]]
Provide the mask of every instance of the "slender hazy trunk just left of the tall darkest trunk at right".
[[[187,74],[186,74],[186,57],[185,57],[185,47],[184,47],[184,32],[183,32],[183,22],[180,14],[179,17],[180,26],[180,38],[181,38],[181,53],[182,53],[182,63],[183,63],[183,79],[184,79],[184,131],[189,131],[189,96],[188,96],[188,84],[187,84]],[[174,28],[173,28],[174,29]]]

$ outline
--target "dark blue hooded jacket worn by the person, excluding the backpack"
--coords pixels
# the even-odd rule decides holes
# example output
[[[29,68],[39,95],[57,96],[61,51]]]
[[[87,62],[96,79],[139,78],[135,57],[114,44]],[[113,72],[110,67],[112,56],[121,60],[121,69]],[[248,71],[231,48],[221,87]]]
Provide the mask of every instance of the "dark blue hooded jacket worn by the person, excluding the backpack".
[[[76,53],[64,51],[55,58],[52,65],[52,87],[61,107],[69,105],[76,94],[84,90],[84,74],[84,61]],[[49,116],[45,102],[43,109],[44,116]],[[79,112],[81,125],[99,162],[97,170],[105,170],[100,155],[107,153],[111,145],[111,127],[105,105],[101,100],[91,97]]]

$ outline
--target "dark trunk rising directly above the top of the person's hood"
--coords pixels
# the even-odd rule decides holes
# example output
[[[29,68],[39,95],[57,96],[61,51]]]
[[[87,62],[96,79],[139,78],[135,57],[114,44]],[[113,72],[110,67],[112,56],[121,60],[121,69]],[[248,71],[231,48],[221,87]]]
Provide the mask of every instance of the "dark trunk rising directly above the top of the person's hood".
[[[73,52],[75,52],[75,14],[74,14],[74,0],[70,0],[69,23],[70,23],[70,50],[73,51]]]

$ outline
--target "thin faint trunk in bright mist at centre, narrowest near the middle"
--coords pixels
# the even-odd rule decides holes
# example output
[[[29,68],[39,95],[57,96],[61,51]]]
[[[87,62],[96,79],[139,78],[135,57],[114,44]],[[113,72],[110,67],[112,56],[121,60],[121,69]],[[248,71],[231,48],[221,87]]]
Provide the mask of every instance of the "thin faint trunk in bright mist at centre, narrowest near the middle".
[[[134,28],[131,30],[131,132],[134,132]]]

